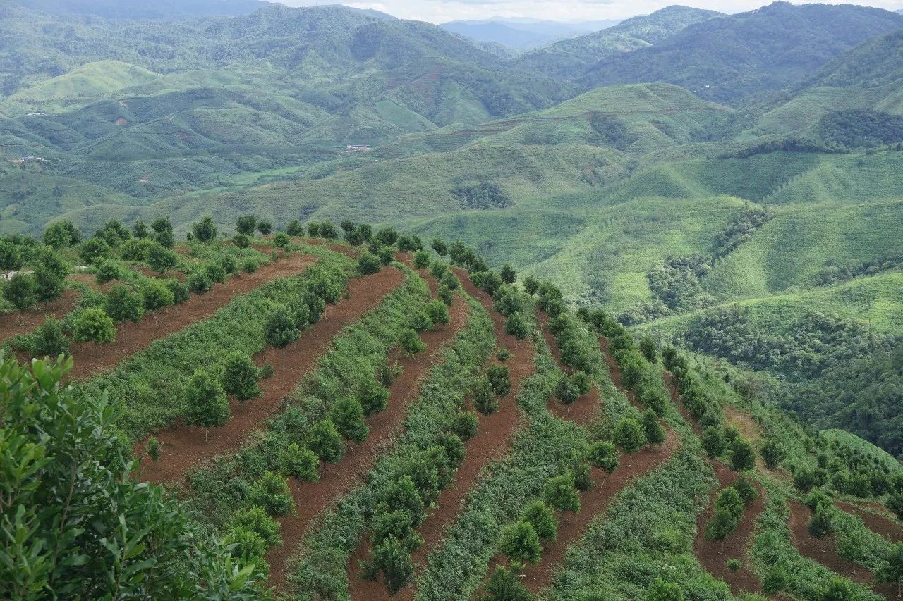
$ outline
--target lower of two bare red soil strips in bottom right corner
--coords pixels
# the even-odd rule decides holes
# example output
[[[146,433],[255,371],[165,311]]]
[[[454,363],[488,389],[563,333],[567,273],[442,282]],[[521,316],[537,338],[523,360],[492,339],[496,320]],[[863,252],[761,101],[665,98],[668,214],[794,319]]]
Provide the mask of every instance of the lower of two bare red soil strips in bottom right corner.
[[[790,509],[790,539],[793,545],[799,550],[803,557],[813,559],[822,564],[825,568],[855,580],[860,584],[871,587],[873,591],[889,599],[898,598],[898,587],[895,584],[882,583],[875,581],[875,575],[869,569],[843,559],[837,554],[837,541],[835,534],[828,534],[824,539],[816,539],[809,534],[808,523],[812,512],[804,504],[794,500],[787,501]]]

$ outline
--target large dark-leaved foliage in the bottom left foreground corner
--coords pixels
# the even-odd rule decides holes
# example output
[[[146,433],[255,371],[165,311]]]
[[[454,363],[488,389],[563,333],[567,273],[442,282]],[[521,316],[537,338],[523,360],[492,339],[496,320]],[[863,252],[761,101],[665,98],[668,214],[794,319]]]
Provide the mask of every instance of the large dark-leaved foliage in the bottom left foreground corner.
[[[256,599],[260,575],[194,532],[111,436],[121,408],[0,353],[0,598]]]

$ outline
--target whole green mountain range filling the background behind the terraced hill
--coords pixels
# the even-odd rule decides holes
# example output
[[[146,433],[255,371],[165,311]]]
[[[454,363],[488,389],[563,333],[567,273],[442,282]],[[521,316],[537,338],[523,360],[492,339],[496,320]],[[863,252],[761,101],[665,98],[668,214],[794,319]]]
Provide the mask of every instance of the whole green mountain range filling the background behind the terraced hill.
[[[836,406],[831,370],[741,359],[703,325],[748,307],[762,356],[813,307],[868,317],[880,345],[901,333],[898,274],[868,266],[903,227],[899,14],[673,6],[517,57],[337,6],[162,22],[2,0],[0,15],[4,233],[168,216],[184,234],[216,207],[223,227],[252,211],[460,236],[570,302],[777,378],[820,427],[873,402]],[[772,217],[716,250],[749,207]],[[694,255],[708,263],[688,272]],[[819,283],[841,272],[857,275]],[[776,315],[799,330],[776,334]],[[851,429],[903,452],[898,404]]]

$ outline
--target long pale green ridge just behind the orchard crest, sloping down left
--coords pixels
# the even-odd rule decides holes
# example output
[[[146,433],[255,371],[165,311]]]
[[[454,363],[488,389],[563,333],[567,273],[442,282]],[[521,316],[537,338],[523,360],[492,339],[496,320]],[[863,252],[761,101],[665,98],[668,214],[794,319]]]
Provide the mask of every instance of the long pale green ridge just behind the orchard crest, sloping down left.
[[[128,209],[127,218],[167,212],[176,225],[187,224],[214,203],[224,224],[249,207],[276,224],[299,214],[405,224],[442,216],[458,225],[435,227],[452,227],[455,236],[471,219],[501,227],[498,219],[533,219],[537,210],[560,211],[559,217],[571,221],[567,213],[573,203],[567,209],[550,199],[586,194],[627,175],[629,162],[689,141],[694,130],[724,111],[666,84],[602,88],[545,111],[405,136],[367,155],[322,164],[300,181],[166,199],[146,209]],[[487,193],[491,198],[480,191],[487,186],[498,190]],[[72,217],[90,228],[108,218],[102,213],[92,209]],[[498,234],[488,239],[511,237]],[[479,236],[478,230],[466,235]]]

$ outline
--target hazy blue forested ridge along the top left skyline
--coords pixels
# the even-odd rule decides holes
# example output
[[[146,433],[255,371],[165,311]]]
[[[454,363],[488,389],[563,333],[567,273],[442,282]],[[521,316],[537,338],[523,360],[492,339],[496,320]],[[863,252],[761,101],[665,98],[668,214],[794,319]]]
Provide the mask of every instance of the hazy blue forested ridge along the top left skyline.
[[[387,20],[340,6],[270,5],[231,19],[157,23],[62,20],[3,0],[0,19],[0,89],[7,95],[98,60],[161,73],[279,69],[308,81],[396,69],[424,57],[502,67],[498,57],[429,23]]]

